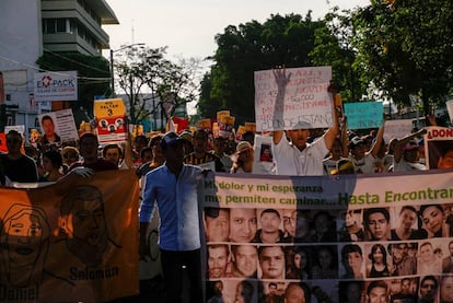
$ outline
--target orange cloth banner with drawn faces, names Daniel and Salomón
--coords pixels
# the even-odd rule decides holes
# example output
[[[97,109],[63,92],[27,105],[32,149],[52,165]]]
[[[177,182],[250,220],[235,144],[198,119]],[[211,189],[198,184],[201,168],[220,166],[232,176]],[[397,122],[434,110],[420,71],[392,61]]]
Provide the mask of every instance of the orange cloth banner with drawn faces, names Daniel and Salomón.
[[[105,302],[139,292],[133,171],[0,188],[0,301]]]

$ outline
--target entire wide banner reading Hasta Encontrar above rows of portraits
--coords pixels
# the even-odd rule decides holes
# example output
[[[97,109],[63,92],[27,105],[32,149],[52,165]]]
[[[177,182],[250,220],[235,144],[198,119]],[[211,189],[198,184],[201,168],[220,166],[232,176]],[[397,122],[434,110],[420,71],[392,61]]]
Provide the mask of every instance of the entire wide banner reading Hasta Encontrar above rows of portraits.
[[[451,302],[452,179],[207,177],[207,302]]]

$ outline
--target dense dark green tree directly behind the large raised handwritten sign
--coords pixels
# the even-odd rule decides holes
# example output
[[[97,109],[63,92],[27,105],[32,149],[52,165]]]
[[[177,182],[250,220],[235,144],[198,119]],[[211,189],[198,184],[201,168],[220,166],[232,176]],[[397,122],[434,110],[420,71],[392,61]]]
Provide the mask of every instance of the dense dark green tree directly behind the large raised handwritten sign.
[[[264,24],[251,21],[239,26],[230,25],[216,36],[218,49],[214,65],[205,75],[198,108],[205,117],[213,117],[217,107],[230,109],[236,121],[255,120],[254,71],[276,66],[312,66],[309,53],[314,47],[314,22],[309,12],[271,15]],[[210,104],[212,103],[212,104]]]

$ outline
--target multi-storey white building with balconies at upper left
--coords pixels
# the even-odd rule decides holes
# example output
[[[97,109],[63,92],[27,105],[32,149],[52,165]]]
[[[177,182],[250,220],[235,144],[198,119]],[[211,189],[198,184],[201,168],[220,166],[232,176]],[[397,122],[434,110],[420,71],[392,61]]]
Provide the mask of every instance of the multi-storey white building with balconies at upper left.
[[[104,24],[119,24],[105,0],[2,0],[0,71],[5,93],[2,125],[25,125],[25,132],[38,127],[37,115],[51,110],[51,104],[34,102],[36,60],[44,51],[101,56],[102,49],[109,47],[109,37],[102,30]]]

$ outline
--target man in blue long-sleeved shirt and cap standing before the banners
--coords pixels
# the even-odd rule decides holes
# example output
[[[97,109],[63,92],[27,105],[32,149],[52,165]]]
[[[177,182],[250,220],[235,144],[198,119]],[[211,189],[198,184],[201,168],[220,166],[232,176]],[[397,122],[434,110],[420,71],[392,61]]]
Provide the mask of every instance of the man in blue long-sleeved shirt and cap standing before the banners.
[[[197,175],[201,168],[184,164],[183,140],[175,132],[165,133],[161,148],[165,163],[146,176],[140,208],[140,258],[150,254],[146,234],[156,201],[165,302],[183,302],[183,266],[189,275],[190,302],[204,302],[197,200]]]

